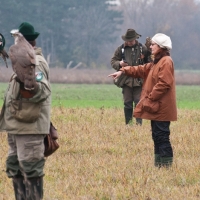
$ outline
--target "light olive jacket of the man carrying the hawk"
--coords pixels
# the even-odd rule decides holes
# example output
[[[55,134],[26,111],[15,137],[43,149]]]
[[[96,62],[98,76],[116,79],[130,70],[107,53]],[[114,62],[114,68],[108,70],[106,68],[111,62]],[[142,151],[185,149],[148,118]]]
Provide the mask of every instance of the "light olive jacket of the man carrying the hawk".
[[[41,48],[35,49],[36,72],[43,77],[37,81],[39,88],[31,98],[20,98],[20,83],[13,74],[4,97],[0,115],[0,131],[10,134],[48,134],[50,127],[51,87],[49,66]]]

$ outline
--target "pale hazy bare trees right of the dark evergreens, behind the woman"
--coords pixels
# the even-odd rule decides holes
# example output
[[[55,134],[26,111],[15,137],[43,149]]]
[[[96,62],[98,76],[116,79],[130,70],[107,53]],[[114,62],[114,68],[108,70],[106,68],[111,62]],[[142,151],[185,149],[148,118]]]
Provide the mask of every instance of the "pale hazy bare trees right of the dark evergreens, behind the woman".
[[[172,55],[178,68],[199,68],[200,6],[194,0],[120,0],[123,28],[134,28],[143,37],[158,32],[172,39]],[[124,32],[124,30],[123,30]]]

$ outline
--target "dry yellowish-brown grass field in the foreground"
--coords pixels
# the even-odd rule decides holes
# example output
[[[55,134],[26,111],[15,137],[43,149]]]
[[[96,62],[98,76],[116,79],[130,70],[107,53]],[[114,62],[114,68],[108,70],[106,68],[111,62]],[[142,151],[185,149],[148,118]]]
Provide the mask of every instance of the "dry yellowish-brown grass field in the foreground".
[[[200,110],[171,123],[174,164],[154,167],[150,122],[124,125],[122,109],[53,108],[58,151],[46,159],[44,200],[200,199]],[[14,200],[0,135],[0,200]]]

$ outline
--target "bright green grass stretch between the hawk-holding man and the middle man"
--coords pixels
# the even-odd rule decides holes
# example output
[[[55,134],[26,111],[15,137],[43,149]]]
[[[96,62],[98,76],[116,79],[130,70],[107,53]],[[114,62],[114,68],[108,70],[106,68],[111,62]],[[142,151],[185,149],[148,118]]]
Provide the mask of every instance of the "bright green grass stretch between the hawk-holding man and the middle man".
[[[109,84],[53,84],[52,105],[64,107],[121,107],[121,89]]]

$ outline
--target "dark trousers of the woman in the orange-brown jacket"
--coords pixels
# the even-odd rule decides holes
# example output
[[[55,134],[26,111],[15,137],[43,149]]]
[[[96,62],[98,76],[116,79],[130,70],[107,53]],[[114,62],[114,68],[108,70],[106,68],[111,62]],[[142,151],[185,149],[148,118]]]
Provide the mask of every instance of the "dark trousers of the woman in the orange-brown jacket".
[[[169,126],[169,121],[151,121],[154,153],[159,154],[161,157],[173,157]]]

